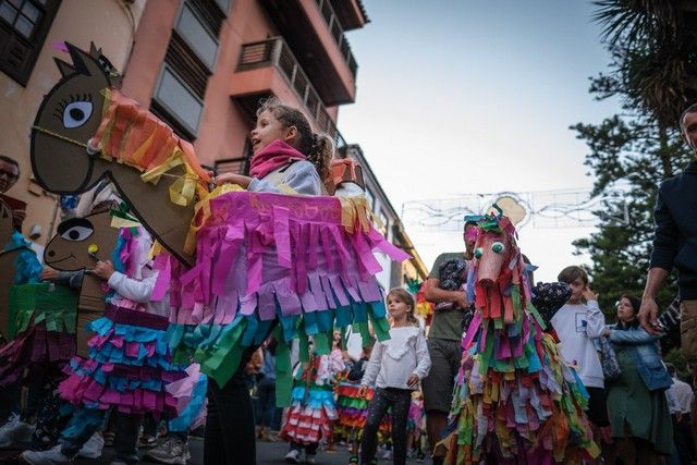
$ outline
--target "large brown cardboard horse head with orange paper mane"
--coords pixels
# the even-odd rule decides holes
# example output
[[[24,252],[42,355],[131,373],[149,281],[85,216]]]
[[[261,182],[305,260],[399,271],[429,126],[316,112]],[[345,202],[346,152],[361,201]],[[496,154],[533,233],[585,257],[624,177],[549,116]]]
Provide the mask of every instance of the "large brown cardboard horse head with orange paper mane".
[[[193,147],[115,89],[103,62],[65,46],[72,63],[56,59],[63,77],[44,98],[32,129],[34,175],[54,194],[82,193],[110,178],[152,236],[193,265],[186,240],[194,195],[208,182]]]

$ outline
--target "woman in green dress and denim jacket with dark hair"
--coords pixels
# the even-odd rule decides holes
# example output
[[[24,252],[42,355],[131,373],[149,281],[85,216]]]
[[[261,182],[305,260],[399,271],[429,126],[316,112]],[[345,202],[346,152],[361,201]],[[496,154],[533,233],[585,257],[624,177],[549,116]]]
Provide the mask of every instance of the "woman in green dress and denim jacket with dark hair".
[[[612,437],[620,442],[625,464],[656,464],[659,455],[673,451],[673,425],[665,390],[673,383],[659,355],[660,335],[647,333],[637,314],[641,301],[623,295],[617,323],[602,335],[609,338],[622,375],[608,387]]]

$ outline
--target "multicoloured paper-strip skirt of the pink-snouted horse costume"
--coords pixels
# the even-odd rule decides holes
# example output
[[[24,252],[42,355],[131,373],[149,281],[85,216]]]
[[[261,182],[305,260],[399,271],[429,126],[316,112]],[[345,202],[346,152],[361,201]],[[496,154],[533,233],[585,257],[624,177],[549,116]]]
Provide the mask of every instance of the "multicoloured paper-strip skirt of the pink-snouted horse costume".
[[[537,315],[521,317],[506,331],[477,315],[463,338],[449,436],[440,443],[447,464],[582,463],[599,454],[583,382]]]

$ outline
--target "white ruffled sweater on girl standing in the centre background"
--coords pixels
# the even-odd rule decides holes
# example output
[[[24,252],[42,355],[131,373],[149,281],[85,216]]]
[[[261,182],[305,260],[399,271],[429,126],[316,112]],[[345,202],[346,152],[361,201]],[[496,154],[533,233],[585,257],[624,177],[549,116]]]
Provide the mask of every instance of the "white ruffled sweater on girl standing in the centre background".
[[[421,380],[430,368],[431,358],[421,330],[417,327],[392,328],[390,340],[375,343],[360,383],[375,383],[378,388],[416,389],[406,384],[409,375],[416,374]]]

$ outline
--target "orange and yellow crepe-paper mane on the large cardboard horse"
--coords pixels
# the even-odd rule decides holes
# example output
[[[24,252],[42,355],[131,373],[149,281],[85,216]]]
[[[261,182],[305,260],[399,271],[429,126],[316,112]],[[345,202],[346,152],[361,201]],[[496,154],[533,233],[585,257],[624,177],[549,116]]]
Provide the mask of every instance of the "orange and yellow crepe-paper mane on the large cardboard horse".
[[[101,157],[143,171],[144,181],[157,180],[170,169],[183,164],[187,181],[207,192],[209,175],[196,159],[194,147],[170,126],[115,88],[105,96],[101,124],[90,140]]]

